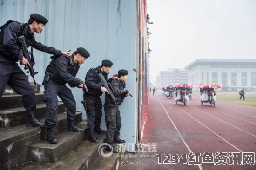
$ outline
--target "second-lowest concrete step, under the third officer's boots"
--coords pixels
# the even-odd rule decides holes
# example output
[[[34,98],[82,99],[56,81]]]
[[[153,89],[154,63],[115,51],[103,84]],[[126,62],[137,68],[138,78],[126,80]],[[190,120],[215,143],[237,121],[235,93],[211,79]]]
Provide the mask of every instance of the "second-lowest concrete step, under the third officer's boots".
[[[28,162],[17,170],[46,170],[46,168],[47,170],[92,170],[100,157],[98,149],[106,134],[96,134],[96,137],[100,140],[100,143],[93,144],[88,140],[83,140],[78,147],[55,163]]]

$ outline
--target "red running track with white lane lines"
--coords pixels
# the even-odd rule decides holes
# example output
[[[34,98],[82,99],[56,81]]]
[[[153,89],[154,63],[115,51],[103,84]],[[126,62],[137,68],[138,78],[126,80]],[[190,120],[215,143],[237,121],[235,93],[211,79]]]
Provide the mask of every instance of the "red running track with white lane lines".
[[[222,105],[218,107],[218,104]],[[216,101],[216,107],[202,106],[193,98],[186,106],[174,99],[166,99],[157,92],[151,96],[149,117],[145,125],[143,143],[157,143],[156,154],[178,154],[210,152],[256,152],[256,119],[242,114],[243,105],[235,107],[229,103]],[[236,111],[229,109],[235,108]],[[240,108],[242,107],[242,108]],[[245,107],[248,114],[254,114],[254,107]],[[242,120],[243,119],[243,120]],[[221,143],[222,141],[222,143]],[[242,156],[242,153],[241,153]],[[202,162],[202,157],[199,157]],[[229,160],[229,159],[227,159]],[[229,161],[228,161],[229,162]],[[123,159],[121,170],[256,170],[255,165],[188,165],[158,164],[156,157]]]

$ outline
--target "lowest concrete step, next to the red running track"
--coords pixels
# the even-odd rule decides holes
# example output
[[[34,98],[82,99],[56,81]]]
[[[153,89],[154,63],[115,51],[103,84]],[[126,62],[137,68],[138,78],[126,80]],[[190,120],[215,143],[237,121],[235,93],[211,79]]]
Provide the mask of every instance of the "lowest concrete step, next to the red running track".
[[[124,144],[117,144],[115,146],[119,148],[120,152],[112,153],[109,157],[101,156],[97,163],[95,163],[93,170],[118,170],[118,167],[124,157],[125,146]]]

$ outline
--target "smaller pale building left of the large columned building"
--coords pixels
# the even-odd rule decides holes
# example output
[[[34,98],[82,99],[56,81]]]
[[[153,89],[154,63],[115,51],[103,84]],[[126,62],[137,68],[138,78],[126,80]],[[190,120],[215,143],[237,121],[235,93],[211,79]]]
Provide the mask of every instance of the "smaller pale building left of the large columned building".
[[[157,77],[158,88],[164,85],[174,84],[187,84],[188,83],[188,71],[185,69],[167,69],[167,71],[160,71],[159,77]]]

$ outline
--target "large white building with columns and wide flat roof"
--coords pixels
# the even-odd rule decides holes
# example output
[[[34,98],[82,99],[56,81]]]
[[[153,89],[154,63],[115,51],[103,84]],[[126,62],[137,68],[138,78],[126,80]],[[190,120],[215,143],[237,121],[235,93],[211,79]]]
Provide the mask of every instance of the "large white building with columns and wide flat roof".
[[[216,83],[229,91],[256,87],[256,59],[196,59],[185,69],[193,85]]]

